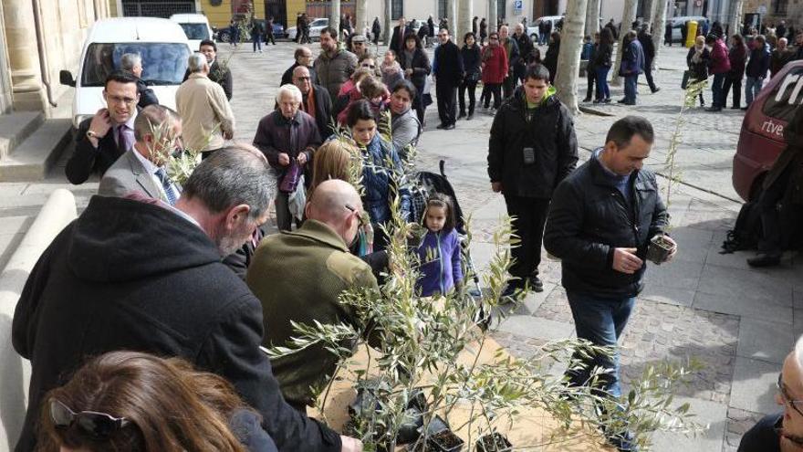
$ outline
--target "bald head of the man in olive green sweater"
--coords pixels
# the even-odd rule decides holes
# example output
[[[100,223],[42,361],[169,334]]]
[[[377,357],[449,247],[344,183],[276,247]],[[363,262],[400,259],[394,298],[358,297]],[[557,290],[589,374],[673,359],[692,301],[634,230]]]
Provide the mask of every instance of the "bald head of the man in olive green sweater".
[[[348,245],[357,234],[362,201],[357,190],[346,181],[331,179],[315,187],[307,205],[307,217],[326,224]]]

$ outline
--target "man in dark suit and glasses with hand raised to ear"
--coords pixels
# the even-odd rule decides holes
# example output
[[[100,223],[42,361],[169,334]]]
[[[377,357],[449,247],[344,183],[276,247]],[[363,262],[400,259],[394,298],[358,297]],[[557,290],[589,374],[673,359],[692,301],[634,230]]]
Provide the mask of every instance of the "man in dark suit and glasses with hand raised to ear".
[[[106,108],[78,126],[76,149],[65,173],[72,184],[83,184],[89,175],[103,176],[106,170],[134,144],[134,120],[137,119],[137,79],[130,73],[114,71],[103,89]]]

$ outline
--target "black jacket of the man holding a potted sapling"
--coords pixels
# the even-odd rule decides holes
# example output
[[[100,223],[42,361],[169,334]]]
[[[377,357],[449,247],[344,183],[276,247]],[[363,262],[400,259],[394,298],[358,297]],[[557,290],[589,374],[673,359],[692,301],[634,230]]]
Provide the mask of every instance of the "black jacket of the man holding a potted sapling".
[[[631,173],[631,202],[610,181],[596,157],[558,185],[549,206],[544,247],[562,260],[563,287],[600,297],[635,297],[645,266],[632,275],[612,268],[616,247],[638,248],[646,258],[650,239],[669,221],[655,174]]]

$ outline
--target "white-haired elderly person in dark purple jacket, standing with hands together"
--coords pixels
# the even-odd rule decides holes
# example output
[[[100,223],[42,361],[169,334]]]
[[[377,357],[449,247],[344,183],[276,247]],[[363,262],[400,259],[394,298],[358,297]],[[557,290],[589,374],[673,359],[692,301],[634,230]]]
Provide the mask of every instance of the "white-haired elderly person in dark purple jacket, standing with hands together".
[[[321,143],[315,119],[302,110],[301,90],[295,85],[282,85],[276,93],[278,110],[273,110],[259,120],[254,136],[254,145],[265,153],[267,162],[278,171],[276,194],[276,226],[289,231],[293,216],[297,226],[303,211],[303,200],[295,196],[302,184],[302,175],[312,162],[312,155]],[[309,177],[306,178],[307,181]],[[290,214],[291,195],[297,199],[297,215]]]

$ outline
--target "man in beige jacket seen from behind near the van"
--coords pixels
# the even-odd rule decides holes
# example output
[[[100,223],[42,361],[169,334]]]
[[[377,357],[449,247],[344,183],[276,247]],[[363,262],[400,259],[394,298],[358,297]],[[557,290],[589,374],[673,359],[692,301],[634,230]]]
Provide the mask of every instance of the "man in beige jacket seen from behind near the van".
[[[203,152],[205,159],[235,136],[235,113],[223,87],[209,79],[206,57],[196,53],[188,63],[190,77],[176,91],[176,109],[186,149]]]

